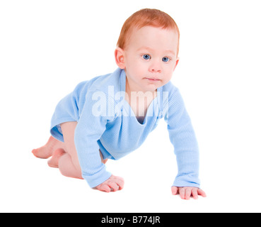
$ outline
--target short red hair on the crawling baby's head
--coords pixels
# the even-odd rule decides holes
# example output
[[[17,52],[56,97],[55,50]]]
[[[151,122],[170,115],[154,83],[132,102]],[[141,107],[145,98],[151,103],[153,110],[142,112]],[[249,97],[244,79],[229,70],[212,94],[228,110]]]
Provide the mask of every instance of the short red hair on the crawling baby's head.
[[[117,47],[126,48],[127,41],[129,40],[132,30],[134,28],[143,28],[145,26],[152,26],[155,28],[163,29],[173,29],[178,33],[178,42],[180,40],[180,31],[177,24],[167,13],[160,11],[158,9],[141,9],[136,13],[132,14],[127,21],[124,22],[122,26],[122,31],[120,32],[120,37],[117,42]],[[178,43],[179,50],[179,43]],[[177,52],[178,56],[178,52]]]

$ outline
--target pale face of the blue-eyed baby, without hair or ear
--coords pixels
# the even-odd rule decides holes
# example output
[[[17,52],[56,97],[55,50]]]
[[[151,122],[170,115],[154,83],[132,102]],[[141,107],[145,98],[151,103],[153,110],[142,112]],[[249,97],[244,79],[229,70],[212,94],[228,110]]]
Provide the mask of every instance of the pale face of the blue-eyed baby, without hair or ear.
[[[131,90],[156,91],[167,84],[178,64],[178,33],[146,26],[135,29],[124,50],[124,65]]]

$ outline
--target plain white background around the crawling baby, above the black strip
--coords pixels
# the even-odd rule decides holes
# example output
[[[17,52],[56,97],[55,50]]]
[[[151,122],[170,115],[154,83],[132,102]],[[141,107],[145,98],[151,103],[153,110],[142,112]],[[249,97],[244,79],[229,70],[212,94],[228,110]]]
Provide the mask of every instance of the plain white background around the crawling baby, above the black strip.
[[[124,21],[156,8],[180,28],[173,74],[192,118],[207,198],[172,196],[177,174],[166,123],[108,170],[102,193],[60,175],[31,150],[50,136],[59,99],[113,72]],[[259,1],[0,1],[1,212],[260,212]]]

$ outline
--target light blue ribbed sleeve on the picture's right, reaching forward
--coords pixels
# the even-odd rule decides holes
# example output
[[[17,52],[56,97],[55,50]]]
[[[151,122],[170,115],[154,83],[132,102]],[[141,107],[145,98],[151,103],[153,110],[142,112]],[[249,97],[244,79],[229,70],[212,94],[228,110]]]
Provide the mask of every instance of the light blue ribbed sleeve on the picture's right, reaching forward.
[[[174,91],[168,99],[165,121],[168,123],[170,142],[178,164],[178,175],[173,186],[199,187],[199,149],[190,116],[185,109],[179,90]]]

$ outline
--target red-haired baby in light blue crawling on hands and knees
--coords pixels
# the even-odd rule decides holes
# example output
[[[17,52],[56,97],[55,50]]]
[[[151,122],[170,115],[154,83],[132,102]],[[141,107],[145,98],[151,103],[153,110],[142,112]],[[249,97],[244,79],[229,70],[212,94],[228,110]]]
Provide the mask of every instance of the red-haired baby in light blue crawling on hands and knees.
[[[206,196],[199,189],[197,140],[179,90],[170,82],[179,57],[179,30],[173,18],[142,9],[125,21],[115,50],[113,73],[81,82],[54,111],[51,137],[33,150],[62,175],[86,179],[103,192],[121,190],[122,177],[106,170],[139,148],[164,118],[175,148],[178,176],[172,194]]]

